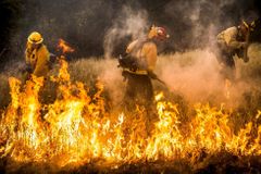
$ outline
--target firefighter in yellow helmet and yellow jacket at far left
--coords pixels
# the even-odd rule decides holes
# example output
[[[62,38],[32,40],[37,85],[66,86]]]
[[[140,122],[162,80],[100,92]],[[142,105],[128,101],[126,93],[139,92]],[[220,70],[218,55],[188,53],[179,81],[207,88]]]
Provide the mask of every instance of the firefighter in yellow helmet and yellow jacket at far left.
[[[44,38],[37,32],[33,32],[27,39],[25,61],[27,73],[35,76],[47,76],[49,72],[50,53],[42,44]]]

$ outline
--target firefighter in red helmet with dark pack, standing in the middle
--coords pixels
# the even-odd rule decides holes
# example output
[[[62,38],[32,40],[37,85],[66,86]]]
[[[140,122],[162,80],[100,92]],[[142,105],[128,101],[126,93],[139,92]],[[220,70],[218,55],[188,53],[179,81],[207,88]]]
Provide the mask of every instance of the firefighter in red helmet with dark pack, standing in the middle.
[[[124,101],[128,104],[148,105],[153,101],[151,78],[158,78],[153,72],[158,53],[156,41],[167,37],[163,27],[152,26],[145,38],[132,41],[125,55],[120,58],[119,63],[127,80]]]

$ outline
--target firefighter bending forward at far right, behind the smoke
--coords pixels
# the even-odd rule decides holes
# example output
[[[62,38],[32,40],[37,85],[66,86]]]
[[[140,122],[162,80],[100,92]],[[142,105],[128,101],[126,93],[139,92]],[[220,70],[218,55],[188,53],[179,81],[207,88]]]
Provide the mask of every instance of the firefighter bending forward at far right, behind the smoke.
[[[250,26],[243,21],[239,26],[229,27],[216,36],[217,61],[221,64],[221,72],[227,79],[235,79],[234,55],[248,62],[247,47]]]

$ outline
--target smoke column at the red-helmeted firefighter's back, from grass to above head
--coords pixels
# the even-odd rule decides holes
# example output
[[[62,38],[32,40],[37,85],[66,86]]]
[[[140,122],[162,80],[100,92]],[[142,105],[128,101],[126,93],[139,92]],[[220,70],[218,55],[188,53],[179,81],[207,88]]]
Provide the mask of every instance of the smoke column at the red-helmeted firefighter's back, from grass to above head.
[[[116,105],[122,102],[124,97],[124,83],[120,69],[116,69],[116,61],[110,61],[117,47],[122,52],[125,51],[126,45],[122,40],[134,40],[146,35],[148,29],[148,13],[146,10],[134,10],[129,5],[124,5],[114,20],[112,26],[104,35],[104,67],[100,74],[100,79],[104,83],[112,104]],[[110,62],[110,63],[109,63]],[[113,63],[112,63],[113,62]]]

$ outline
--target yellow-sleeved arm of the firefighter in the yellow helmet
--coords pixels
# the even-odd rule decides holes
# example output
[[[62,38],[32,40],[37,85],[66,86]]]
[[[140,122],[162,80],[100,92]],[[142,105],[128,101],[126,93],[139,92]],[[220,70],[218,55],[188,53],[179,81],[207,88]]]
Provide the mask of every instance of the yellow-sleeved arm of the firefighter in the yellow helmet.
[[[50,59],[50,53],[44,46],[38,52],[37,63],[34,71],[36,76],[45,76],[48,73],[48,61]]]

